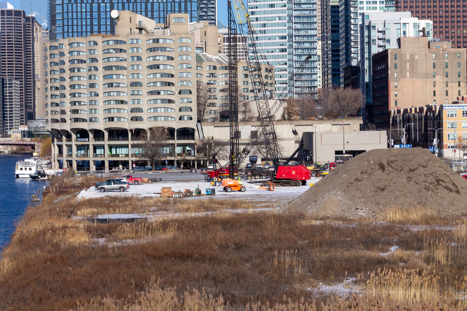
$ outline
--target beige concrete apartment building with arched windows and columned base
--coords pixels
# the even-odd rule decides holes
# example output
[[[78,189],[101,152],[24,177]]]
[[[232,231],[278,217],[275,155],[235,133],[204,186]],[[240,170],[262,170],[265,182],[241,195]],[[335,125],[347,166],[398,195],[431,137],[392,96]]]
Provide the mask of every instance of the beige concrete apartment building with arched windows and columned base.
[[[114,36],[91,35],[45,44],[45,122],[52,136],[55,168],[131,167],[133,160],[142,159],[132,148],[135,139],[154,127],[169,131],[164,150],[169,161],[181,153],[191,155],[188,160],[195,159],[195,141],[203,137],[197,127],[197,83],[228,80],[219,73],[224,67],[219,62],[225,63],[227,58],[218,55],[222,43],[216,26],[189,24],[188,14],[169,14],[165,24],[156,24],[142,15],[121,11],[116,20]],[[210,66],[217,63],[216,70],[200,66],[197,51],[215,55],[203,60],[212,61]],[[239,63],[243,66],[246,63]],[[272,67],[265,68],[271,69],[273,73]],[[203,78],[197,79],[197,74]],[[215,77],[206,79],[208,74]],[[218,109],[214,107],[221,102],[214,98],[221,96],[212,96],[211,110]]]

